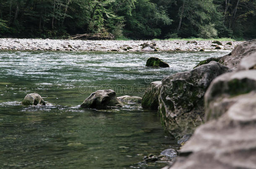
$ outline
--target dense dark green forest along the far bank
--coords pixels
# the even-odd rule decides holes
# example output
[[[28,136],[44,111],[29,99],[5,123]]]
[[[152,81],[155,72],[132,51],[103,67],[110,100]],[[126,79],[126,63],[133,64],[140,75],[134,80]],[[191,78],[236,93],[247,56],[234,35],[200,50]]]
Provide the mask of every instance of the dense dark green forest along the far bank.
[[[0,38],[256,38],[256,0],[1,0]]]

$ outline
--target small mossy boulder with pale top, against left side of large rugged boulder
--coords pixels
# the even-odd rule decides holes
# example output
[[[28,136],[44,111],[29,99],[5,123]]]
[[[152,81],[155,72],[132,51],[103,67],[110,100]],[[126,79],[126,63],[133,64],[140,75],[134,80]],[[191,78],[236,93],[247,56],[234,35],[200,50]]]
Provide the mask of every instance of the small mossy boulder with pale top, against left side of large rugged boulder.
[[[141,106],[143,108],[150,108],[152,110],[157,110],[159,103],[158,103],[158,96],[161,91],[162,82],[161,81],[154,81],[149,84],[149,87],[146,88],[144,96],[142,98]]]

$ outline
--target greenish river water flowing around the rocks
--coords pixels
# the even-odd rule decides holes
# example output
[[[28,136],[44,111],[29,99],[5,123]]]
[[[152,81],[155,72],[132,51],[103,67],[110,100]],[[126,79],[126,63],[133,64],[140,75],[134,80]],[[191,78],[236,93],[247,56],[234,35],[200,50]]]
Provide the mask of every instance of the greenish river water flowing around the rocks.
[[[219,52],[115,53],[0,51],[0,168],[160,168],[139,163],[177,149],[156,111],[129,105],[94,110],[79,105],[90,93],[143,96],[151,81],[193,68]],[[144,66],[159,57],[170,68]],[[23,106],[39,93],[46,106]]]

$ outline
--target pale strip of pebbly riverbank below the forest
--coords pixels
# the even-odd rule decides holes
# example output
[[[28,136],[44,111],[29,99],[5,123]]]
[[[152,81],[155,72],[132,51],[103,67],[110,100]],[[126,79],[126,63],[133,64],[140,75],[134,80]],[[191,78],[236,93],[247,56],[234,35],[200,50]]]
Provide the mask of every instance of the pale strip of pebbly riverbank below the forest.
[[[0,38],[0,50],[61,50],[61,51],[141,51],[142,44],[154,44],[158,51],[213,51],[231,50],[243,41],[222,41],[217,44],[212,40],[53,40],[53,39],[17,39]]]

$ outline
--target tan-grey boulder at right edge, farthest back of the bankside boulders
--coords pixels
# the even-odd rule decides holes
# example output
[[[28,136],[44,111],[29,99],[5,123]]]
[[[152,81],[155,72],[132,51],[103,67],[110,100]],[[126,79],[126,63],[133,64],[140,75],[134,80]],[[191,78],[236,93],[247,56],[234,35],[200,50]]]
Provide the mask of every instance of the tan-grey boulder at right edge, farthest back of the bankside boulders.
[[[256,39],[246,41],[242,44],[237,45],[231,53],[215,58],[215,60],[231,69],[238,66],[242,58],[246,58],[252,53],[256,52]],[[213,59],[212,59],[213,60]],[[199,64],[206,64],[208,61],[201,61]]]

